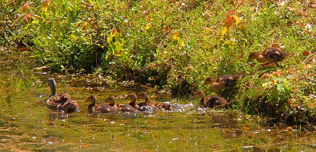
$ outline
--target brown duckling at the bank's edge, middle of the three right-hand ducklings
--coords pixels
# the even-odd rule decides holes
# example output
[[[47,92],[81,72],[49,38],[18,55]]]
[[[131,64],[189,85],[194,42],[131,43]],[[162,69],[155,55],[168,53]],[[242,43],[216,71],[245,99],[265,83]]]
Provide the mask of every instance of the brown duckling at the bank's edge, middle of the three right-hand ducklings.
[[[221,89],[231,89],[233,88],[238,79],[242,78],[242,75],[221,75],[217,77],[216,81],[211,77],[205,79],[204,85],[210,84],[213,91],[219,91]]]

